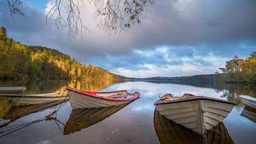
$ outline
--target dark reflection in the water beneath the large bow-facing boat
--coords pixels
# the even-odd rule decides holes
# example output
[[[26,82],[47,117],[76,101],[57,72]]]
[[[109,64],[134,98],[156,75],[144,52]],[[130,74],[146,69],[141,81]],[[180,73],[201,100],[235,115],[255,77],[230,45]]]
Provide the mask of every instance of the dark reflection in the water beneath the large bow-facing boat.
[[[154,127],[161,144],[166,143],[234,143],[228,135],[225,125],[221,122],[207,133],[206,140],[203,136],[196,134],[182,125],[168,120],[157,110],[154,112]]]

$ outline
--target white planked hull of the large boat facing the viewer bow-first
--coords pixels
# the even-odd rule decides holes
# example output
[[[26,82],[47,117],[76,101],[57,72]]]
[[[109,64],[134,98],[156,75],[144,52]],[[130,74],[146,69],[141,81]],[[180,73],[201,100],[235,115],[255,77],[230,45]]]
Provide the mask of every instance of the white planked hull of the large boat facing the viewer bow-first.
[[[206,99],[164,104],[155,103],[155,105],[161,115],[203,135],[205,130],[209,131],[212,127],[216,127],[216,125],[222,122],[235,105],[232,102],[229,104],[218,102],[218,100],[211,100],[211,98],[207,97],[204,98]]]

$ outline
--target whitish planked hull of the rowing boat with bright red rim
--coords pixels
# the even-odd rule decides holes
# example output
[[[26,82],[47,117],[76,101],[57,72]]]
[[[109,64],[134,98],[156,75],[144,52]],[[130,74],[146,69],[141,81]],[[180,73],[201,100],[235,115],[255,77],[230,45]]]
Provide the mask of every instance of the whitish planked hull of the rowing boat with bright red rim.
[[[67,89],[68,90],[68,89]],[[81,91],[79,91],[81,92]],[[124,91],[126,92],[126,91]],[[115,93],[110,93],[115,94]],[[129,93],[126,93],[129,95]],[[73,109],[79,108],[102,108],[109,106],[118,106],[120,104],[125,104],[127,102],[131,102],[132,100],[138,99],[139,97],[134,98],[112,98],[108,97],[104,93],[100,93],[100,95],[85,95],[84,93],[77,93],[73,90],[68,90],[70,104]]]

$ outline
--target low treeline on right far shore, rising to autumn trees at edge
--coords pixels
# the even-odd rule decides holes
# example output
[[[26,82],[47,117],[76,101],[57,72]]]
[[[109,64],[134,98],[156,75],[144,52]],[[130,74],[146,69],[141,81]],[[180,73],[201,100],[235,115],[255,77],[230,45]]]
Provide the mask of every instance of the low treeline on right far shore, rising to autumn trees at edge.
[[[225,68],[219,68],[222,73],[203,74],[182,77],[147,77],[130,78],[138,81],[170,81],[170,82],[222,82],[222,83],[252,83],[256,84],[256,51],[249,58],[239,59],[234,56],[232,60],[226,61]]]

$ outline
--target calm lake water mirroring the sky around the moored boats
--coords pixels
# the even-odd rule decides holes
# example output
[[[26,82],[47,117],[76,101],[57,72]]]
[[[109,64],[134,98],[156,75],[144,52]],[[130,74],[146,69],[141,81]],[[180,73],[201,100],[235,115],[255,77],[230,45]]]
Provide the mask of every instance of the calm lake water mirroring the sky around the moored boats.
[[[153,81],[154,82],[154,81]],[[2,84],[3,85],[3,84]],[[130,93],[140,92],[137,99],[126,106],[113,109],[78,109],[72,110],[70,102],[44,108],[44,106],[29,108],[10,108],[4,112],[2,100],[2,116],[0,119],[0,143],[193,143],[203,141],[197,134],[166,122],[166,127],[159,127],[154,102],[166,93],[182,96],[183,93],[204,95],[218,99],[236,102],[231,113],[223,120],[228,143],[255,143],[256,113],[249,111],[250,116],[243,116],[246,111],[238,95],[251,93],[255,96],[255,86],[206,86],[207,84],[174,84],[152,81],[128,81],[124,83],[72,83],[51,82],[26,85],[26,93],[61,92],[67,86],[83,90],[127,90]],[[212,84],[213,85],[213,84]],[[211,88],[212,87],[212,88]],[[218,88],[216,88],[218,87]],[[46,119],[56,108],[60,108],[54,117]],[[35,110],[36,109],[36,110]],[[99,111],[106,111],[100,115]],[[3,114],[4,113],[4,114]],[[88,115],[90,113],[90,115]],[[160,121],[159,121],[160,122]],[[174,126],[172,126],[174,125]],[[214,130],[215,131],[215,130]],[[216,134],[218,130],[215,131]],[[168,136],[168,138],[166,138]],[[208,137],[207,137],[208,138]],[[208,143],[227,143],[213,138]]]

